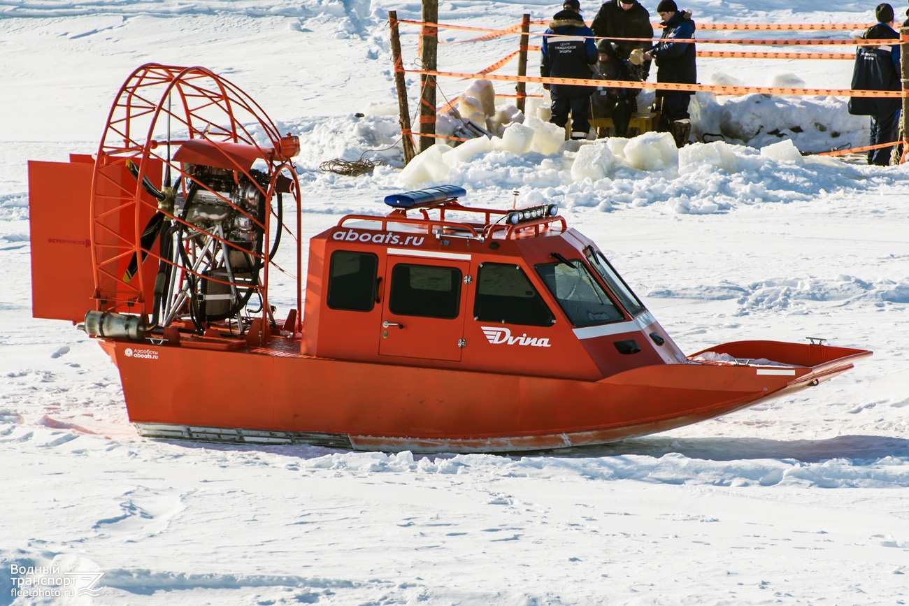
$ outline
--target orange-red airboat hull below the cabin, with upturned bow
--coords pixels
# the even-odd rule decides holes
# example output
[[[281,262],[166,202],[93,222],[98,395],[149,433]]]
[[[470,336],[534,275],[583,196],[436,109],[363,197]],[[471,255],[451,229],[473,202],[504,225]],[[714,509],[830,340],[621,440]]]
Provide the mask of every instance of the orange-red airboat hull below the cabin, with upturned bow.
[[[750,358],[788,352],[813,364],[661,364],[578,381],[102,343],[120,370],[129,418],[145,436],[389,452],[539,451],[664,432],[817,384],[870,355],[823,345],[727,343],[711,351]],[[219,370],[189,371],[212,368]]]

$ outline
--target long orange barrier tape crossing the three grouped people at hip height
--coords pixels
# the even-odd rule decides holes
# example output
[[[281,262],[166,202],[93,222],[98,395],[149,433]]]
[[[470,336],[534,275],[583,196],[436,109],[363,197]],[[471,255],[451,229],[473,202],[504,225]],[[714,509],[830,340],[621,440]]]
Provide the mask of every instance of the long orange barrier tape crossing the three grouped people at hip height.
[[[714,84],[674,84],[668,82],[635,82],[626,80],[591,80],[583,78],[553,78],[532,75],[459,74],[426,70],[405,70],[410,74],[426,74],[449,78],[499,80],[504,82],[533,82],[535,84],[574,84],[575,86],[604,86],[606,88],[652,88],[680,93],[706,91],[714,94],[792,94],[794,96],[854,96],[876,98],[901,98],[903,91],[863,91],[848,88],[780,88],[775,86],[726,86]]]

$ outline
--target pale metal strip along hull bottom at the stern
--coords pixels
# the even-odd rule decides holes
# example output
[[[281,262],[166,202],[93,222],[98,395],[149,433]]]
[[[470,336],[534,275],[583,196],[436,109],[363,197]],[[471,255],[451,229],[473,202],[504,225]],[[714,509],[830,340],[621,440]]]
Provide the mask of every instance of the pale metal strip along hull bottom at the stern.
[[[223,442],[230,444],[306,444],[352,450],[346,433],[275,432],[255,429],[228,429],[172,425],[169,423],[135,423],[139,435],[160,440],[192,440],[194,442]]]

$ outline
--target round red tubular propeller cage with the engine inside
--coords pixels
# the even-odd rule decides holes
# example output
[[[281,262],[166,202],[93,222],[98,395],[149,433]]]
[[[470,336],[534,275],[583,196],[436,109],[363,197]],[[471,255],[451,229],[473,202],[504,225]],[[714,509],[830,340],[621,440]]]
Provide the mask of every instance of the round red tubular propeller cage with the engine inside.
[[[156,104],[149,101],[155,91]],[[97,310],[133,314],[148,331],[177,325],[204,333],[225,321],[242,334],[254,314],[271,322],[269,267],[282,231],[299,238],[283,224],[281,200],[290,193],[299,208],[295,169],[275,151],[289,136],[204,68],[136,70],[115,99],[96,156]]]

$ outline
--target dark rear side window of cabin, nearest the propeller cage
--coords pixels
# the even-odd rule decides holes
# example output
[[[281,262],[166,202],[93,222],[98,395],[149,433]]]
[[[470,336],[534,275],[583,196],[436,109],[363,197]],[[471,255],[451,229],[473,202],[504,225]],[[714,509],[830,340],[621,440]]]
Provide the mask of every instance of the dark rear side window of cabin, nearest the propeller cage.
[[[368,312],[375,305],[379,258],[373,253],[335,251],[328,269],[328,306]]]

